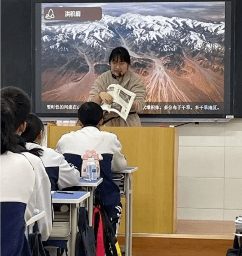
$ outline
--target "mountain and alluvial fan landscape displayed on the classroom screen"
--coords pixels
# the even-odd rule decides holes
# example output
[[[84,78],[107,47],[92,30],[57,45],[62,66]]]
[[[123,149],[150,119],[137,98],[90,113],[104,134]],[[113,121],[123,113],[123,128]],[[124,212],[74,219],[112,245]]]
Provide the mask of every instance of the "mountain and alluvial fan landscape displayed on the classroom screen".
[[[87,101],[119,46],[142,77],[147,104],[224,102],[223,19],[107,13],[95,22],[42,21],[42,102]]]

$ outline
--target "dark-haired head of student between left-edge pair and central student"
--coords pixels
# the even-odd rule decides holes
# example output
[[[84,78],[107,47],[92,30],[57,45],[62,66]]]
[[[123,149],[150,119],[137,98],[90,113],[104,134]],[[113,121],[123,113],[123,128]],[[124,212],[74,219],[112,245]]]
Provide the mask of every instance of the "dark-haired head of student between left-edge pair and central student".
[[[37,142],[41,143],[43,138],[44,125],[40,118],[34,113],[30,113],[29,118],[27,118],[27,127],[25,131],[21,134],[26,142]]]

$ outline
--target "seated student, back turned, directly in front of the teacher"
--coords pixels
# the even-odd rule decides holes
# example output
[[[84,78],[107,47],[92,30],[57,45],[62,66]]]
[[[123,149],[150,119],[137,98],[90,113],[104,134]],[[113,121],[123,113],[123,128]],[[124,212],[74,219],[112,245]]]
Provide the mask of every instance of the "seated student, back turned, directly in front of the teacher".
[[[116,221],[114,226],[117,233],[122,204],[119,188],[112,179],[112,171],[122,171],[126,166],[126,159],[121,153],[122,145],[116,134],[100,131],[103,109],[97,103],[83,103],[78,109],[78,118],[81,129],[62,135],[56,151],[62,153],[80,172],[81,156],[87,150],[95,150],[103,156],[103,160],[100,161],[100,177],[104,180],[97,190],[100,191],[109,217]]]

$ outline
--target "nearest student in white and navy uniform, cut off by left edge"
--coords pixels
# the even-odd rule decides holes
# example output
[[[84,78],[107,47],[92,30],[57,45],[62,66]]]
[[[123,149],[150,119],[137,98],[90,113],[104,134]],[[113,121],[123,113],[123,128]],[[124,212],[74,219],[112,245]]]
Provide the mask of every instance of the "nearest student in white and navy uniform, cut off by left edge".
[[[1,99],[1,255],[31,256],[25,222],[32,217],[35,173],[17,148],[10,106]]]

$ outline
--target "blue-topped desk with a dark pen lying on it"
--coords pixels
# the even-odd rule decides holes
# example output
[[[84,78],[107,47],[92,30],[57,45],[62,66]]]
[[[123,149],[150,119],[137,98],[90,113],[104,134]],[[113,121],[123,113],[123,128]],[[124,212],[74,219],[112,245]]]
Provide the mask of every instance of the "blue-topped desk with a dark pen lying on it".
[[[66,193],[71,194],[66,194]],[[76,254],[76,239],[77,239],[77,213],[78,207],[81,202],[90,196],[89,192],[81,191],[51,191],[52,203],[57,204],[70,204],[70,217],[71,217],[71,245],[70,245],[70,255],[75,256]],[[58,237],[51,237],[55,239]]]

